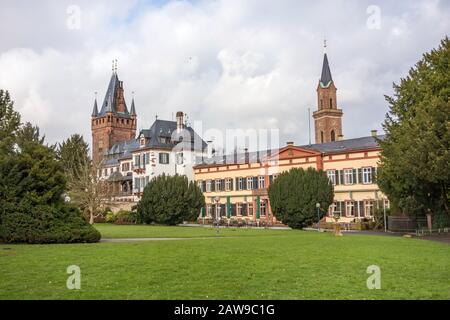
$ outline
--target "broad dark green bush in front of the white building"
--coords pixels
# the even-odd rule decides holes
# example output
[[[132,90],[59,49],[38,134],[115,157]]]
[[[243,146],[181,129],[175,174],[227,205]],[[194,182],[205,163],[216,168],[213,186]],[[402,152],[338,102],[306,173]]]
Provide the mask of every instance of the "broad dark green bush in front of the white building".
[[[196,221],[205,197],[200,188],[185,176],[160,175],[145,187],[137,206],[140,223],[176,225]]]

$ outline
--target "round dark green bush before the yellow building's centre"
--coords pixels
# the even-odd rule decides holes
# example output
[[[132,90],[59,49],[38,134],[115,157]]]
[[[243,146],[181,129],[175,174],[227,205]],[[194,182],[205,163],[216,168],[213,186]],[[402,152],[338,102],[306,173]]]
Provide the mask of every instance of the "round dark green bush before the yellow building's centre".
[[[293,168],[281,173],[269,186],[274,216],[291,228],[303,228],[322,218],[333,202],[333,186],[322,170]]]

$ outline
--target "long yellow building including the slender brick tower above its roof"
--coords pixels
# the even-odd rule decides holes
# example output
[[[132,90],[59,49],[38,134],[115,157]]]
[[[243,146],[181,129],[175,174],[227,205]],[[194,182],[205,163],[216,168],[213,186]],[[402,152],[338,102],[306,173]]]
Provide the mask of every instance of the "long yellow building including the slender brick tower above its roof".
[[[317,87],[314,112],[316,144],[285,147],[264,152],[210,156],[194,167],[195,181],[206,198],[203,220],[238,220],[244,223],[274,225],[268,187],[280,172],[312,167],[326,172],[334,185],[334,203],[325,221],[338,213],[341,222],[371,219],[376,207],[389,205],[376,181],[380,146],[376,131],[371,135],[344,140],[342,109],[338,108],[337,88],[325,54]]]

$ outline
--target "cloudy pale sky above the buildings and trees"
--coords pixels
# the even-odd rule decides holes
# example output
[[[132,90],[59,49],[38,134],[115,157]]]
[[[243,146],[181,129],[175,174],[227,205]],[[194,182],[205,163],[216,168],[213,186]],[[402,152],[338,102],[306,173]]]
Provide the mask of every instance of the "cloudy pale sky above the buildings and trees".
[[[0,0],[0,88],[47,141],[90,141],[118,59],[138,127],[182,110],[203,129],[308,142],[323,40],[345,138],[381,130],[384,94],[450,30],[450,2]],[[99,101],[101,103],[102,101]]]

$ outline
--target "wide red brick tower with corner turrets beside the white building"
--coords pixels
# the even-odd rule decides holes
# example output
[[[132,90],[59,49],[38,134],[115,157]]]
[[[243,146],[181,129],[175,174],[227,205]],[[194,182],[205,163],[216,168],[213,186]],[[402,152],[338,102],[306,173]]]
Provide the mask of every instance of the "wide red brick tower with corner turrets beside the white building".
[[[92,159],[95,162],[101,161],[105,152],[114,144],[134,139],[136,125],[134,98],[131,110],[128,111],[123,95],[123,82],[117,76],[116,63],[116,66],[113,66],[113,73],[100,112],[97,107],[97,98],[94,102],[91,118]]]

